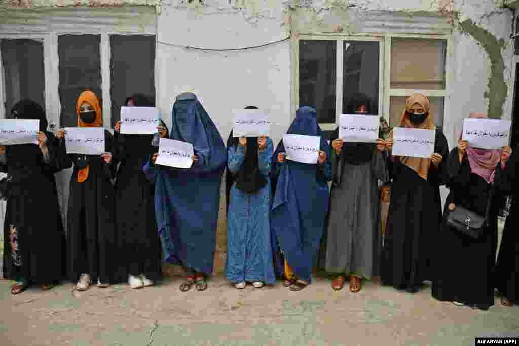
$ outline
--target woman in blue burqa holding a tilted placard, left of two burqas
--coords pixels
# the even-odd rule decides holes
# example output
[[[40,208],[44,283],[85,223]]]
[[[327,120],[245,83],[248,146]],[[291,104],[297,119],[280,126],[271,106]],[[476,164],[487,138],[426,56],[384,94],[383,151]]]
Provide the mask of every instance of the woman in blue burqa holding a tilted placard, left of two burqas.
[[[220,183],[227,164],[222,136],[193,93],[176,96],[170,139],[193,144],[193,165],[188,169],[155,165],[157,154],[144,166],[155,183],[155,214],[162,242],[163,261],[182,265],[186,281],[207,288],[205,276],[213,271]]]

